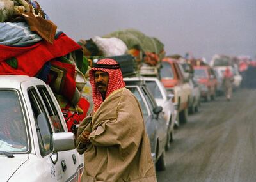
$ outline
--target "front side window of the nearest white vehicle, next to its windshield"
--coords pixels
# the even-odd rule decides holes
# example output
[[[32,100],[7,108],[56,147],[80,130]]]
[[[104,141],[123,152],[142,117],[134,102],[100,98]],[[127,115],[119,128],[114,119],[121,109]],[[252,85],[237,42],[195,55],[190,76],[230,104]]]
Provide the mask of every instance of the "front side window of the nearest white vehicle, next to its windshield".
[[[46,117],[47,125],[40,125],[40,123],[38,123],[38,116],[40,114],[45,114],[45,116],[47,116],[47,113],[44,109],[44,106],[38,94],[36,93],[36,89],[35,88],[29,89],[28,95],[29,95],[29,100],[31,102],[33,115],[36,121],[35,122],[36,132],[37,132],[38,142],[40,144],[40,153],[42,156],[45,156],[51,153],[51,149],[50,149],[50,140],[51,140],[51,134],[52,134],[51,125],[47,117]]]

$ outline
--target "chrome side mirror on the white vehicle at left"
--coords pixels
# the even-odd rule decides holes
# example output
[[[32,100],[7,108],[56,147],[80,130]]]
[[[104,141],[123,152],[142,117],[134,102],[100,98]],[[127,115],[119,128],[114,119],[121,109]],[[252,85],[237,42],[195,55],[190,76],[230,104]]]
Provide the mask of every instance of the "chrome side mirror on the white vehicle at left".
[[[52,151],[68,151],[75,149],[74,133],[60,132],[52,133]]]

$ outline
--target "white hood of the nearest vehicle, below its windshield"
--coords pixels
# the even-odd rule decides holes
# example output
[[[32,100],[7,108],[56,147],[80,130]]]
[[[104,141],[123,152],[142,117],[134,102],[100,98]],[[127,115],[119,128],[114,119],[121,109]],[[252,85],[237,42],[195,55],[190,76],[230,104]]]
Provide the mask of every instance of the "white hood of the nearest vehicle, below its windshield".
[[[8,181],[12,174],[19,169],[19,167],[28,160],[28,154],[13,154],[13,158],[0,155],[0,181]]]

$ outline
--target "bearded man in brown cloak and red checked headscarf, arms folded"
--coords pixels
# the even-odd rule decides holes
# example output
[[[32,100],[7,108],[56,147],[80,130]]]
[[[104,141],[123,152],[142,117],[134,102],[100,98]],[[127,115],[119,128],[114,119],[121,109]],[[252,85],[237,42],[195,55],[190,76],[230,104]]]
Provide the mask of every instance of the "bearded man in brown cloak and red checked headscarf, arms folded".
[[[81,181],[156,181],[140,104],[125,88],[120,66],[101,59],[90,70],[93,113],[79,126]]]

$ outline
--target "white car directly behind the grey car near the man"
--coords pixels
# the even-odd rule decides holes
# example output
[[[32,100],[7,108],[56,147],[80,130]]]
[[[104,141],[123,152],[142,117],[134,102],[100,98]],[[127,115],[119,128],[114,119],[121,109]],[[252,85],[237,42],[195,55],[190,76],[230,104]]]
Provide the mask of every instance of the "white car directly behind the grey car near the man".
[[[168,142],[166,143],[166,149],[170,148],[170,142],[173,140],[173,128],[174,125],[179,125],[177,123],[177,110],[175,105],[173,105],[171,95],[168,96],[165,87],[162,82],[156,77],[132,77],[124,78],[125,84],[129,82],[141,82],[143,81],[150,92],[154,96],[157,105],[163,107],[164,118],[166,120],[166,125],[168,125]]]

